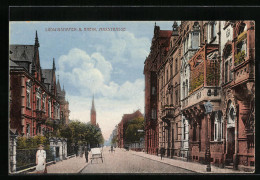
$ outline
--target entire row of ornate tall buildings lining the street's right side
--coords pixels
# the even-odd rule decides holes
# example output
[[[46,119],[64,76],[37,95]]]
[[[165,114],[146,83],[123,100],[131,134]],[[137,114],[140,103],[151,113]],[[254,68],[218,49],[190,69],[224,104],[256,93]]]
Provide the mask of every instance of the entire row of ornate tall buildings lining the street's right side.
[[[254,169],[254,26],[182,21],[164,41],[155,26],[144,65],[147,153],[163,147],[170,157]]]

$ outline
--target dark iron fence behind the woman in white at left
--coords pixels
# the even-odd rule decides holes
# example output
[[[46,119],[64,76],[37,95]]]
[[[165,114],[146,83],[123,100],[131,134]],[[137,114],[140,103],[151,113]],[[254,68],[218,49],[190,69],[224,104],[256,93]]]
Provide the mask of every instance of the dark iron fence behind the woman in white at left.
[[[36,152],[37,148],[33,149],[17,149],[16,150],[16,170],[20,171],[29,167],[36,166]],[[46,162],[53,161],[52,149],[45,149]]]

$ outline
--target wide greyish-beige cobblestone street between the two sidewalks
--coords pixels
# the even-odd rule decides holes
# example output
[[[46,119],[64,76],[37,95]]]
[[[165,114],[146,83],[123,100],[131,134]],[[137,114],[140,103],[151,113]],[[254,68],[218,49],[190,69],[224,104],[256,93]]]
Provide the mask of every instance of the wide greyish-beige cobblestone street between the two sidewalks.
[[[81,173],[194,173],[119,148],[115,149],[115,153],[110,153],[109,148],[104,148],[103,155],[103,163],[100,159],[95,159]]]

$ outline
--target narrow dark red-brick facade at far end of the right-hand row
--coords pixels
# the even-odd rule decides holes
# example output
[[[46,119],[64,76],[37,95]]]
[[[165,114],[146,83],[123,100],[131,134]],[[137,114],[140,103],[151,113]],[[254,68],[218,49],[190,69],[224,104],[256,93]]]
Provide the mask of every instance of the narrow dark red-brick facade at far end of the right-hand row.
[[[169,51],[172,31],[160,30],[154,26],[154,36],[151,43],[150,54],[144,62],[145,75],[145,149],[147,153],[157,154],[159,151],[159,138],[164,138],[164,132],[159,129],[158,98],[159,88],[158,69],[164,63]],[[162,127],[163,124],[160,125]],[[160,133],[160,135],[159,135]]]

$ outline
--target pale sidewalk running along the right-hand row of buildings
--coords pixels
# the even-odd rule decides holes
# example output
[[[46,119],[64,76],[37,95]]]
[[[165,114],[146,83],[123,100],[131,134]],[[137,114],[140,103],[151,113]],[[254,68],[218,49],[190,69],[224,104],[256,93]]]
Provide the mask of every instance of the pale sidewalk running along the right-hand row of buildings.
[[[204,164],[200,164],[200,163],[196,163],[196,162],[186,162],[186,161],[170,159],[170,158],[166,158],[166,157],[163,157],[163,159],[161,160],[160,156],[146,154],[144,152],[136,152],[136,151],[130,151],[130,152],[132,154],[136,155],[136,156],[148,158],[148,159],[151,159],[151,160],[154,160],[154,161],[159,161],[159,162],[162,162],[162,163],[165,163],[165,164],[169,164],[169,165],[172,165],[172,166],[176,166],[176,167],[180,167],[180,168],[187,169],[187,170],[190,170],[190,171],[194,171],[196,173],[211,173],[211,174],[248,173],[248,172],[238,171],[238,170],[233,170],[233,169],[219,168],[219,167],[216,167],[216,166],[211,166],[211,172],[207,172],[206,171],[206,165],[204,165]]]

